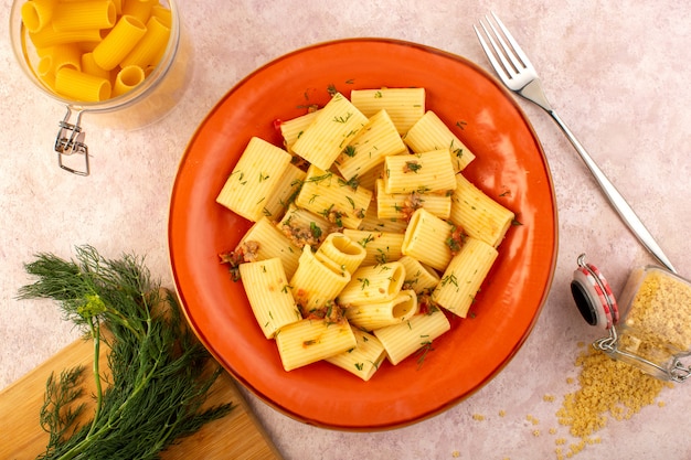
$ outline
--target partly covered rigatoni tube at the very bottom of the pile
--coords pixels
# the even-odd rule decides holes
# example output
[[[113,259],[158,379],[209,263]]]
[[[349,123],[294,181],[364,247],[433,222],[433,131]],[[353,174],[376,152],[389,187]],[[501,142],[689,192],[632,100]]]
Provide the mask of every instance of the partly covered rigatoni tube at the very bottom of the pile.
[[[351,329],[358,344],[343,353],[327,357],[326,361],[368,382],[386,359],[386,351],[373,334]]]

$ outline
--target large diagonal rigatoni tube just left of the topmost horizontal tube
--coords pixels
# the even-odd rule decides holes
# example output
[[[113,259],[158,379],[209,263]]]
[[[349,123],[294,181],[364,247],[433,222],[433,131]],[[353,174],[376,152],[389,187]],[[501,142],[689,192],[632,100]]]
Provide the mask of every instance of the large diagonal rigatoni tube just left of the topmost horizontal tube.
[[[293,145],[293,151],[312,165],[328,170],[366,122],[368,118],[337,93]]]

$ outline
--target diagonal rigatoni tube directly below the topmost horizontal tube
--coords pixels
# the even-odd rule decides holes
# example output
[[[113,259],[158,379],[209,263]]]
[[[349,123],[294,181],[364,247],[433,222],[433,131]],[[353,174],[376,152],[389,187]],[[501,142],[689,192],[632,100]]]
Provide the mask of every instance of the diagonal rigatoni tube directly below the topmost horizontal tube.
[[[346,180],[360,176],[381,165],[384,157],[407,152],[386,110],[374,114],[368,124],[336,159],[334,164]]]

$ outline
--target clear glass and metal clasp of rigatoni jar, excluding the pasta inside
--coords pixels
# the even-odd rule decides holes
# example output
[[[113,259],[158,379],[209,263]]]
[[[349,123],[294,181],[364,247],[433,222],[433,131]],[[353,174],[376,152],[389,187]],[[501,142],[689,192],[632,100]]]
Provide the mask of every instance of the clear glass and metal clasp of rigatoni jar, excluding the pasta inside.
[[[79,175],[89,174],[88,148],[81,122],[85,114],[108,128],[134,130],[166,116],[180,100],[190,78],[190,46],[183,40],[179,9],[174,0],[161,6],[170,11],[170,35],[158,64],[147,69],[146,78],[126,93],[95,103],[71,100],[50,88],[40,77],[41,56],[22,21],[21,9],[28,0],[14,0],[10,12],[10,38],[17,61],[26,77],[43,94],[67,109],[59,122],[54,150],[59,165]],[[54,14],[53,14],[54,15]],[[76,158],[76,160],[75,160]]]

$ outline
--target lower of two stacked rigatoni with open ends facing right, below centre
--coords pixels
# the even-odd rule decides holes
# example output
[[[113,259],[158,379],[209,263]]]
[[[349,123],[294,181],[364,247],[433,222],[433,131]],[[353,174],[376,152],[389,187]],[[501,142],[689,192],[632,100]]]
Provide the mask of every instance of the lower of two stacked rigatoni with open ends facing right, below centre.
[[[346,309],[346,318],[360,329],[372,331],[410,320],[417,313],[417,295],[401,290],[396,297],[383,302],[366,302]]]

